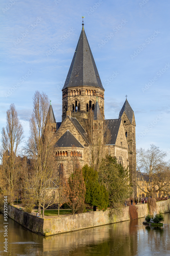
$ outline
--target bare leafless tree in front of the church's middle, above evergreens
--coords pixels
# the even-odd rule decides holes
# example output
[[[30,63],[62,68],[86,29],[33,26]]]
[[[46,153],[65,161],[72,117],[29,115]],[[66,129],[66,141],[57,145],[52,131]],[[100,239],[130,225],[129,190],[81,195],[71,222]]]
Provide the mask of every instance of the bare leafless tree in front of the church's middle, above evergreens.
[[[107,121],[102,115],[94,120],[94,113],[91,109],[88,113],[86,133],[89,142],[87,161],[93,169],[98,171],[102,158],[106,155],[106,145],[109,144],[111,135]]]

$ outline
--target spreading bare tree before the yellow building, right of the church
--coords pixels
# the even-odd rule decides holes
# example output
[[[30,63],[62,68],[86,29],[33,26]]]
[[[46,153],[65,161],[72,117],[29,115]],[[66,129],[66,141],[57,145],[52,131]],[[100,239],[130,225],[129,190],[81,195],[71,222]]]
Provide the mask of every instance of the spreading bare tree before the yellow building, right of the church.
[[[168,193],[170,187],[169,165],[165,162],[167,153],[151,144],[150,149],[137,150],[137,172],[143,183],[136,181],[140,190],[155,198],[157,192]]]

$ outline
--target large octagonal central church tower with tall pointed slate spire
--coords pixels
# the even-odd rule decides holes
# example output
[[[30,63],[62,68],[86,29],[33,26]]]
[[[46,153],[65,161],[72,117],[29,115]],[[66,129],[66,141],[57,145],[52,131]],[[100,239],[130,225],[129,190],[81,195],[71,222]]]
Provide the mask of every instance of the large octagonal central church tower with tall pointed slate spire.
[[[62,122],[68,114],[85,129],[89,109],[94,111],[97,97],[104,114],[104,88],[84,31],[84,24],[71,66],[62,88]],[[70,112],[71,111],[71,112]]]

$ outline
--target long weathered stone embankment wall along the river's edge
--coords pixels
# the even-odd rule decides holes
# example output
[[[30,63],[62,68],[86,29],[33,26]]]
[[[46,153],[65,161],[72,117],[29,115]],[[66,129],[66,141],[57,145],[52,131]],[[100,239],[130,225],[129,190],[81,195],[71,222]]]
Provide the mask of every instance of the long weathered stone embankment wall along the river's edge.
[[[157,209],[155,210],[157,212],[170,212],[170,199],[156,202],[156,205]],[[145,217],[145,214],[149,213],[148,204],[140,204],[135,207],[139,218]],[[128,206],[123,207],[121,211],[112,209],[106,211],[85,212],[66,217],[42,219],[8,205],[8,217],[32,232],[44,236],[130,220]]]

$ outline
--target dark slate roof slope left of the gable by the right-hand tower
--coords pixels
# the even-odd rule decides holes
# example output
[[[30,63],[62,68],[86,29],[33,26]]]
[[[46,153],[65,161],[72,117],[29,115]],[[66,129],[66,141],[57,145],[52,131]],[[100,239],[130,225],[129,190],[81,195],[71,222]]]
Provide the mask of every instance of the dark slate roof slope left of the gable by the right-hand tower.
[[[111,133],[111,140],[108,145],[114,145],[116,142],[117,134],[119,132],[119,127],[121,124],[122,119],[106,119],[106,122],[108,124],[108,128]]]

